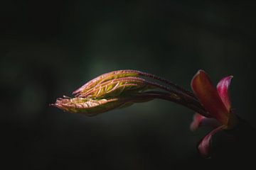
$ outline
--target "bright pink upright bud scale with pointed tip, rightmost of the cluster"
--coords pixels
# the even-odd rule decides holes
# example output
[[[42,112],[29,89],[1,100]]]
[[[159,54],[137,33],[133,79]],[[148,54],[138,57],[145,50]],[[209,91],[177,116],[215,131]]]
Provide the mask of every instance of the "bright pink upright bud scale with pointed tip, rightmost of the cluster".
[[[218,85],[217,85],[218,94],[221,100],[223,101],[223,103],[225,104],[225,107],[228,109],[228,111],[230,111],[230,108],[231,108],[228,89],[229,89],[232,78],[233,76],[224,77],[218,82]]]

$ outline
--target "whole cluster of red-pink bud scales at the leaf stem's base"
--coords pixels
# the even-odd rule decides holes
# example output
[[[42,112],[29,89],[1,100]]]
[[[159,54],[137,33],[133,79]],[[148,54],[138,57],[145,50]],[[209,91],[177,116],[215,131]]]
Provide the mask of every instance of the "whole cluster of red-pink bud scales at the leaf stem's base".
[[[199,152],[208,157],[210,152],[210,141],[212,136],[223,129],[231,129],[238,122],[231,109],[228,89],[233,76],[224,77],[218,82],[217,88],[213,86],[206,72],[199,70],[191,81],[191,88],[208,112],[207,116],[196,113],[191,123],[191,130],[196,130],[201,125],[215,127],[208,135],[203,137],[198,145]]]

